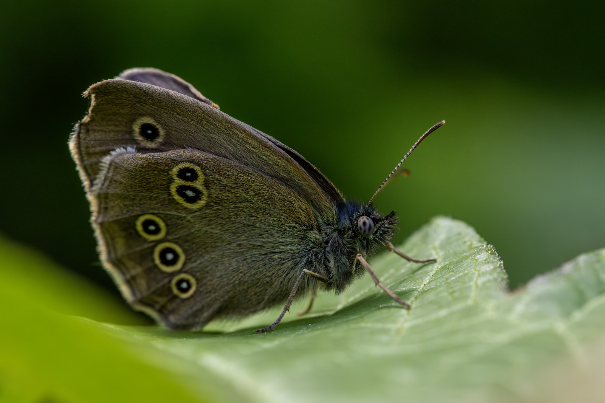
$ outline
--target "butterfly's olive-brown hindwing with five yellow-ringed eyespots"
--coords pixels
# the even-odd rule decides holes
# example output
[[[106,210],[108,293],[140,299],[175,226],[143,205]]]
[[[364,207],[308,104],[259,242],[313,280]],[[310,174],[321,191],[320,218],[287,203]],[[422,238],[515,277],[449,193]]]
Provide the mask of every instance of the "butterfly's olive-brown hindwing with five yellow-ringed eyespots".
[[[103,262],[123,295],[169,327],[200,328],[283,300],[304,256],[321,245],[298,193],[197,150],[118,149],[88,197]],[[194,291],[175,289],[178,279]]]

